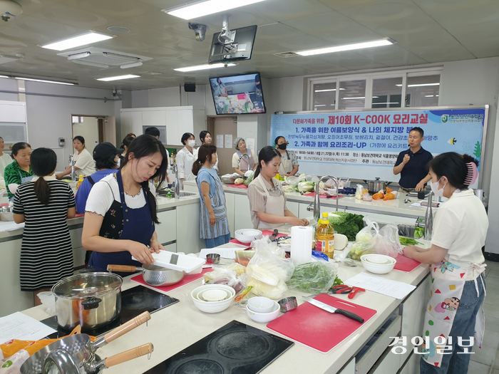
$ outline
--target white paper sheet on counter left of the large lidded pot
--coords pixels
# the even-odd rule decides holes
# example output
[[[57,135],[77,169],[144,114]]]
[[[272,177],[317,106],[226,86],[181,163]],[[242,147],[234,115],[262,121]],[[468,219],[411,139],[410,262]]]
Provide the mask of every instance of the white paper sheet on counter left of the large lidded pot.
[[[0,318],[0,344],[11,339],[39,341],[52,333],[56,333],[53,328],[21,312]]]

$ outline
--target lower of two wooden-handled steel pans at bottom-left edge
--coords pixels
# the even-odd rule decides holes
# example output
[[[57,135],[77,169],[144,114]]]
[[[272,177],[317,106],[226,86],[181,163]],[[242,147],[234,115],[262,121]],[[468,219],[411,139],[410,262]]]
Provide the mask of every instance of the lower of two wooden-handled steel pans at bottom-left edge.
[[[143,355],[150,355],[153,351],[153,344],[147,343],[125,350],[125,352],[118,353],[117,355],[112,355],[109,358],[104,358],[103,360],[90,360],[82,363],[78,359],[75,359],[67,350],[58,348],[48,353],[45,358],[43,374],[53,373],[54,369],[63,374],[95,374],[101,371],[101,369],[110,368],[111,366],[133,360]]]

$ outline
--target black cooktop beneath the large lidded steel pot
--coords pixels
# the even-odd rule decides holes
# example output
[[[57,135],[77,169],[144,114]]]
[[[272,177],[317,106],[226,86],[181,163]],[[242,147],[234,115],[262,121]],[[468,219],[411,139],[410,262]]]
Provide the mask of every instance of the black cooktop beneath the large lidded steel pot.
[[[153,313],[174,303],[178,303],[177,298],[160,294],[159,292],[153,291],[152,289],[148,289],[144,286],[136,286],[132,289],[121,291],[121,312],[118,318],[106,326],[101,326],[100,328],[93,330],[82,329],[81,332],[88,333],[88,335],[91,336],[99,336],[113,330],[113,328],[117,328],[122,323],[130,321],[130,319],[138,316],[140,313],[145,311]],[[66,336],[68,333],[71,333],[71,331],[64,330],[58,326],[56,316],[46,318],[40,322],[45,323],[47,326],[57,330],[56,333],[53,333],[47,338],[61,338],[62,336]]]

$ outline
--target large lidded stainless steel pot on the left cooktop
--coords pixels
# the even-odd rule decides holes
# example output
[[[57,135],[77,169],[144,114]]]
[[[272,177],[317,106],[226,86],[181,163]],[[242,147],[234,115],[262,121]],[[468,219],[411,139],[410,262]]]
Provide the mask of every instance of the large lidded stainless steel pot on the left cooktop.
[[[83,330],[105,326],[120,316],[123,279],[110,273],[70,276],[52,287],[56,316],[66,330],[81,325]]]

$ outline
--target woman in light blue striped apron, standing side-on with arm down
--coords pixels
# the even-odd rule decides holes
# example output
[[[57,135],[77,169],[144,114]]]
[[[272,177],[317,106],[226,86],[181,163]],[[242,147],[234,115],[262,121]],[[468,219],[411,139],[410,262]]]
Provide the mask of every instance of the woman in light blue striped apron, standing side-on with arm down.
[[[212,165],[217,162],[217,147],[203,144],[197,150],[192,174],[197,175],[197,189],[201,195],[200,238],[207,248],[226,244],[230,240],[225,194],[220,177]]]

